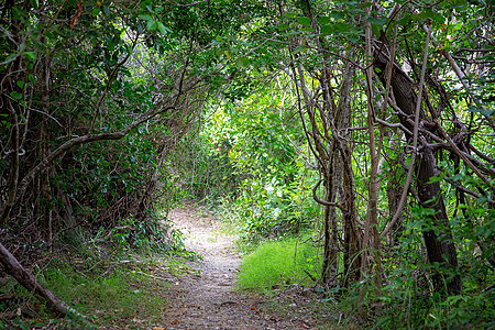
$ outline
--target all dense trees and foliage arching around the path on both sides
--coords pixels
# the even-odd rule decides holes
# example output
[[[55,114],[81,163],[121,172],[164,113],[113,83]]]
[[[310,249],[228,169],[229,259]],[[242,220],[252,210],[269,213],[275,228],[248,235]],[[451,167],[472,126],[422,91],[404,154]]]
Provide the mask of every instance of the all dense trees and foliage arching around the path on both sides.
[[[297,278],[361,327],[491,328],[494,22],[485,1],[7,0],[0,245],[38,274],[175,253],[163,215],[197,198],[245,242],[305,237]]]

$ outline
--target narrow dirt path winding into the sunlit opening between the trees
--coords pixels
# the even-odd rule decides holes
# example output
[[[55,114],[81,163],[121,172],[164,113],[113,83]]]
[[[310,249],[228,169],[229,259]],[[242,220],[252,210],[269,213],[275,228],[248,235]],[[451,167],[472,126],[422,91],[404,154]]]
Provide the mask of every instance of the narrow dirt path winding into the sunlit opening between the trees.
[[[186,234],[186,246],[204,255],[193,274],[177,278],[174,307],[166,329],[312,329],[301,318],[265,312],[263,298],[233,290],[240,257],[232,252],[234,238],[219,232],[218,220],[193,206],[172,212]]]

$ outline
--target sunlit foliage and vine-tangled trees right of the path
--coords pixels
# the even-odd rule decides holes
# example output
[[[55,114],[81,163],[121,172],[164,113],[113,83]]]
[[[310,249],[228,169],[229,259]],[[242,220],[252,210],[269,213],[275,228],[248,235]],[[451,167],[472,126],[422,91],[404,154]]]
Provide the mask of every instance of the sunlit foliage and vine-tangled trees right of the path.
[[[251,91],[205,129],[228,141],[244,237],[316,224],[319,284],[378,327],[490,323],[491,18],[462,1],[294,1],[218,40],[246,74],[229,91]]]

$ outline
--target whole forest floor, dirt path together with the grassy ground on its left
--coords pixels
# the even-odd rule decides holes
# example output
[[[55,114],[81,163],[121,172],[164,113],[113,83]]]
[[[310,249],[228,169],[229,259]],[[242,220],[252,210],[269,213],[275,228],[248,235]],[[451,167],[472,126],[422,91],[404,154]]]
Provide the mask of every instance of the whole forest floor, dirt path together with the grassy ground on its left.
[[[0,274],[0,329],[288,330],[334,329],[341,315],[311,287],[278,285],[264,295],[235,288],[241,257],[234,234],[210,211],[186,204],[169,220],[188,251],[201,256],[141,258],[109,263],[84,273],[82,260],[55,268],[48,286],[87,319],[53,318],[32,295]],[[65,264],[61,263],[61,264]],[[51,275],[52,274],[52,275]],[[92,275],[91,275],[92,274]],[[75,278],[73,278],[75,276]],[[46,277],[48,278],[48,277]],[[2,287],[4,286],[4,287]],[[349,329],[349,328],[348,328]]]

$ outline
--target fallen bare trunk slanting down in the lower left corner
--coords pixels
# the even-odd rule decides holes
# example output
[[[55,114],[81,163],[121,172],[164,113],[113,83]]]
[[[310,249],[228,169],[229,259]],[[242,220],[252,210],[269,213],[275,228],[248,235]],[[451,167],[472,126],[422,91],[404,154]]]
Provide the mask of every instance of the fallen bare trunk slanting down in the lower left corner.
[[[68,312],[77,314],[76,310],[37,282],[36,277],[28,272],[2,243],[0,243],[0,264],[4,267],[6,273],[14,277],[28,292],[33,293],[42,300],[46,300],[47,307],[57,315],[66,316]]]

